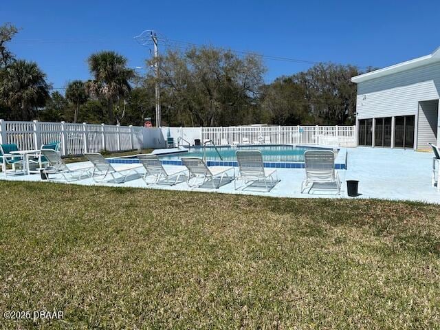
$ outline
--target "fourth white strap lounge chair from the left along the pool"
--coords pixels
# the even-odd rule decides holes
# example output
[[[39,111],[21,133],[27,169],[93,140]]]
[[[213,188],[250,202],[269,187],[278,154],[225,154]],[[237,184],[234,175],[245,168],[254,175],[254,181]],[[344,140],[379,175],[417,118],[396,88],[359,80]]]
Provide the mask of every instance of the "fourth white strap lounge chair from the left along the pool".
[[[181,157],[181,162],[188,168],[188,177],[186,177],[186,183],[191,188],[199,187],[210,181],[212,188],[219,188],[225,179],[232,181],[235,178],[235,170],[233,167],[226,169],[208,168],[203,159],[197,157]],[[232,175],[228,174],[232,170]],[[202,178],[203,181],[200,184],[191,184],[191,179]],[[215,180],[220,179],[216,184]]]

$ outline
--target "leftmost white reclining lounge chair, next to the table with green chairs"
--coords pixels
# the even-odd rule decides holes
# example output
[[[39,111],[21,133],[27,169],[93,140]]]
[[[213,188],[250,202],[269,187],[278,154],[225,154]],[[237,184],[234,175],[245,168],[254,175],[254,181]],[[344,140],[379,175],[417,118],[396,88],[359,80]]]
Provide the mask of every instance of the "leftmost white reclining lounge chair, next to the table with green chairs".
[[[69,168],[60,154],[53,149],[41,149],[41,155],[45,157],[46,166],[43,169],[43,173],[47,175],[48,180],[52,179],[49,174],[61,174],[65,181],[72,181],[72,179],[81,180],[90,177],[91,170],[93,169],[91,166]]]

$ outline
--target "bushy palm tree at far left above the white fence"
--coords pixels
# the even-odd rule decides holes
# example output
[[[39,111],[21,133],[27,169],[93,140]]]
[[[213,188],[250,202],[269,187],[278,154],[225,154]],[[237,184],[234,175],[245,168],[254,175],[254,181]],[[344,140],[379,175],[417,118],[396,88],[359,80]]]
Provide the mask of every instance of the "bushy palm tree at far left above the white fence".
[[[43,107],[49,98],[50,86],[45,78],[36,63],[14,61],[1,72],[0,100],[16,113],[17,118],[30,120],[32,109]]]

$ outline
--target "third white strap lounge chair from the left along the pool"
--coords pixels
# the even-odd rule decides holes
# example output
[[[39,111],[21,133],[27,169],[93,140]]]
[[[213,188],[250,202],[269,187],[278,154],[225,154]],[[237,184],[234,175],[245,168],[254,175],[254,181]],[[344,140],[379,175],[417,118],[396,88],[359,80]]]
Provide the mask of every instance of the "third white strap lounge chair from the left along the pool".
[[[163,183],[174,186],[179,183],[181,177],[186,178],[186,170],[179,170],[174,173],[167,172],[157,155],[137,155],[137,159],[139,159],[140,164],[145,168],[144,181],[147,185]],[[147,182],[147,177],[153,177],[153,181]]]

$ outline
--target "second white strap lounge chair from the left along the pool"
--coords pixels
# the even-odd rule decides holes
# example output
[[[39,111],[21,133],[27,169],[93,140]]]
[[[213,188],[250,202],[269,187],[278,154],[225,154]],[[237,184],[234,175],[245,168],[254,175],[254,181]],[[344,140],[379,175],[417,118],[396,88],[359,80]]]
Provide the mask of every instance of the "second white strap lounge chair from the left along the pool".
[[[115,170],[109,161],[102,157],[100,153],[84,153],[84,155],[89,159],[89,162],[94,165],[91,178],[94,179],[95,182],[102,182],[107,176],[111,176],[110,181],[115,181],[116,183],[121,184],[126,181],[126,178],[131,173],[140,174],[137,170],[142,167],[137,166],[135,168],[127,168],[126,170]]]

